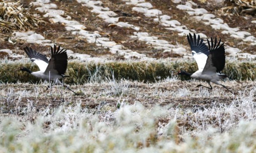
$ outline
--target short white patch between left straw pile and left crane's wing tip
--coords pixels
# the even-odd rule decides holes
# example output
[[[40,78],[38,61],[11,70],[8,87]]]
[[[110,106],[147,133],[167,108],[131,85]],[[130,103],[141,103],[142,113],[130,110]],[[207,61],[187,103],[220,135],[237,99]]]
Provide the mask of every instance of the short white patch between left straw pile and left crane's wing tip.
[[[36,43],[44,46],[53,45],[51,40],[45,40],[44,36],[37,34],[34,31],[14,32],[12,34],[14,35],[13,39],[26,40],[28,43]]]

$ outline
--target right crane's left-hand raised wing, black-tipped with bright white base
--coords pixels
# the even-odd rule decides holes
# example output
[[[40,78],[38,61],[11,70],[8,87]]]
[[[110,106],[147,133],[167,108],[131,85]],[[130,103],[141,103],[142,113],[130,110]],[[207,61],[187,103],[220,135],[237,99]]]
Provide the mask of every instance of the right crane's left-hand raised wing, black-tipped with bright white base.
[[[200,40],[200,36],[198,35],[196,39],[196,34],[194,33],[194,39],[192,35],[189,33],[189,36],[187,35],[188,43],[192,51],[192,55],[196,60],[198,70],[203,71],[207,57],[209,55],[209,49],[204,44],[203,39]]]

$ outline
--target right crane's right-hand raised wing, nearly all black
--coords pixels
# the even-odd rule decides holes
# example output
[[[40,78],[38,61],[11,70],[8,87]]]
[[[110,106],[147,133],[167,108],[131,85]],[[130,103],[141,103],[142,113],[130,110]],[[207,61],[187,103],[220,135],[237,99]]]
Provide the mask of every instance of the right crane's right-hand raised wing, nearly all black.
[[[225,67],[225,47],[224,42],[220,45],[221,39],[217,44],[217,39],[215,37],[215,42],[213,46],[213,40],[211,37],[211,45],[209,40],[207,39],[208,47],[210,50],[210,55],[207,58],[204,70],[202,73],[205,72],[218,72],[223,70]],[[217,45],[217,46],[216,46]]]

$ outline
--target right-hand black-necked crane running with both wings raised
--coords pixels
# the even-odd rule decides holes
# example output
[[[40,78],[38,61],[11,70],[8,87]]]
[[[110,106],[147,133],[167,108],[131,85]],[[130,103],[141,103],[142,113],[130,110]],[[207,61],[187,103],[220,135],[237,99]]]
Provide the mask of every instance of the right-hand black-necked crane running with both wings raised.
[[[229,92],[231,92],[225,85],[220,84],[219,82],[220,79],[224,79],[227,77],[225,74],[220,73],[220,71],[222,71],[225,66],[224,42],[220,44],[221,42],[221,39],[220,39],[217,44],[217,39],[215,37],[215,42],[213,44],[213,40],[211,37],[211,44],[207,39],[208,47],[209,47],[208,48],[204,44],[203,39],[200,40],[199,35],[196,38],[195,33],[194,33],[194,39],[190,33],[189,35],[187,35],[187,38],[188,38],[189,46],[192,51],[192,55],[196,60],[198,70],[193,74],[180,70],[179,72],[175,73],[175,75],[186,75],[191,78],[204,80],[210,85],[210,88],[202,84],[199,84],[196,87],[203,86],[212,90],[212,86],[211,86],[211,82],[212,82],[214,84],[221,85],[222,87],[226,88]]]

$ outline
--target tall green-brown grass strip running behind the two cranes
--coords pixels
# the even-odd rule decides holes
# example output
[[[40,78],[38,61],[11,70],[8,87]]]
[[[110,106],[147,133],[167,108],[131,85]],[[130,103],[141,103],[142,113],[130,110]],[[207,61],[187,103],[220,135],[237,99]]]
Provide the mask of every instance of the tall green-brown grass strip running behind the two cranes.
[[[124,61],[100,61],[100,62],[81,62],[70,60],[68,62],[68,70],[65,79],[67,84],[83,84],[87,82],[100,82],[106,78],[114,76],[117,80],[125,78],[138,81],[155,82],[159,79],[171,77],[172,73],[178,70],[186,70],[194,73],[198,70],[194,60],[187,59],[159,59],[159,60],[124,60]],[[40,80],[29,75],[26,72],[14,71],[19,67],[27,67],[32,71],[37,71],[35,64],[28,59],[17,61],[0,60],[0,81],[1,82],[39,82]],[[235,80],[254,80],[256,72],[255,60],[237,61],[229,58],[223,73],[228,75],[230,79]],[[113,73],[113,75],[112,75]],[[189,79],[180,76],[181,79]]]

